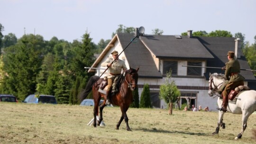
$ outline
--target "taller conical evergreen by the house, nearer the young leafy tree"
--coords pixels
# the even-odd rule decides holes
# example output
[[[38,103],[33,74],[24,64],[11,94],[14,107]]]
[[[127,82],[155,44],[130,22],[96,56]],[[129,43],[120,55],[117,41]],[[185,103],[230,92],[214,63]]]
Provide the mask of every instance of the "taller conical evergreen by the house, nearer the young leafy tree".
[[[150,90],[148,84],[145,84],[140,97],[140,108],[152,108],[150,99]]]

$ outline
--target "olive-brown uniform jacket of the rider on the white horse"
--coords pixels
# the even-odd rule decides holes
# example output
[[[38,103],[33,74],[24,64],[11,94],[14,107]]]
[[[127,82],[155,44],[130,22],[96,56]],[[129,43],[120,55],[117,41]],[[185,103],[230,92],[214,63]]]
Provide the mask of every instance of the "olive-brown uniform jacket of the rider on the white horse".
[[[242,81],[245,78],[239,73],[240,63],[238,60],[231,58],[229,62],[226,63],[225,76],[229,82]]]

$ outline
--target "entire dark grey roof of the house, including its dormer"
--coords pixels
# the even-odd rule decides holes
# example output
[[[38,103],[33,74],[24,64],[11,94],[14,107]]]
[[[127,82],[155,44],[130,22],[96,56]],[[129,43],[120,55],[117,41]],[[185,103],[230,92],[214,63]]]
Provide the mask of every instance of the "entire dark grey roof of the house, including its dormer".
[[[116,40],[119,40],[124,49],[134,37],[134,34],[115,35],[91,67],[97,67],[100,64]],[[153,56],[159,59],[206,60],[207,67],[223,67],[228,61],[228,51],[235,51],[235,38],[233,37],[180,36],[180,38],[176,38],[176,36],[144,35],[136,38],[127,47],[124,54],[130,67],[135,69],[140,67],[139,77],[162,78]],[[241,58],[238,61],[241,69],[250,69],[245,56],[241,52],[240,54]],[[208,79],[210,72],[224,73],[221,69],[207,68],[206,79]],[[241,74],[247,81],[256,81],[250,71],[241,71]]]

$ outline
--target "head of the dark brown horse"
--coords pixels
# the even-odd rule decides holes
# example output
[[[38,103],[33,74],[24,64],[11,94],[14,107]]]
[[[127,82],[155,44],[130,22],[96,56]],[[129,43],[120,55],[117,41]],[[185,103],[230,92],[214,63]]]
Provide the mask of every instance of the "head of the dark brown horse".
[[[131,90],[136,90],[137,89],[137,82],[138,82],[138,70],[139,67],[137,68],[137,70],[130,68],[129,70],[127,70],[125,72],[125,81],[128,83],[128,87]]]

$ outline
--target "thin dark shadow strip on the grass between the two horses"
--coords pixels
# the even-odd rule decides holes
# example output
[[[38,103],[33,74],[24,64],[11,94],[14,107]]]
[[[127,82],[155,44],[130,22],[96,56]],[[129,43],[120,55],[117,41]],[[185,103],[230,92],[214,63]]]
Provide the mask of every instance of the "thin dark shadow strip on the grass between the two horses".
[[[144,131],[144,132],[150,132],[150,133],[168,133],[168,134],[185,134],[185,135],[198,135],[198,136],[210,136],[211,134],[205,134],[205,133],[192,133],[192,132],[184,132],[184,131],[168,131],[168,130],[162,130],[159,129],[157,130],[156,128],[152,129],[146,129],[146,128],[134,128],[133,130],[138,130],[138,131]]]

